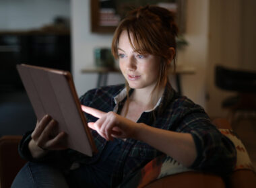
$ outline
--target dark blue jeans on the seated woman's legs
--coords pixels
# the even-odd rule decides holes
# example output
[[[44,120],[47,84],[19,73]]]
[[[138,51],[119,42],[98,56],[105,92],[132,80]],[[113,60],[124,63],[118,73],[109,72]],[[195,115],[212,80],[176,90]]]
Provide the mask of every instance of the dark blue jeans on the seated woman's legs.
[[[94,166],[82,166],[66,175],[59,169],[28,162],[15,177],[11,188],[34,187],[110,187],[110,175]]]

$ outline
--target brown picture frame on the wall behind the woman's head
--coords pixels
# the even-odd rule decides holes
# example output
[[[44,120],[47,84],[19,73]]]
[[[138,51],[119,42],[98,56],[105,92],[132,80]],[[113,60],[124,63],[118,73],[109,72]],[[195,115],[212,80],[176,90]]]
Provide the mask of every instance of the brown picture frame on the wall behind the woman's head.
[[[179,33],[186,30],[187,0],[91,0],[91,32],[111,34],[127,11],[143,5],[159,5],[174,11]]]

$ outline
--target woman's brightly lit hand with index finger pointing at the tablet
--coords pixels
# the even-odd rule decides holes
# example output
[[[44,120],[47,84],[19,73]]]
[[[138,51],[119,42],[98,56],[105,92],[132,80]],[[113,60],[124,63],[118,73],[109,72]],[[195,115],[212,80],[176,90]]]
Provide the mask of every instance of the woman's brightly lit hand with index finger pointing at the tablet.
[[[106,113],[85,105],[81,105],[81,107],[86,113],[99,118],[96,122],[88,123],[88,126],[96,130],[106,140],[113,140],[113,138],[135,138],[140,124],[123,118],[113,111]]]

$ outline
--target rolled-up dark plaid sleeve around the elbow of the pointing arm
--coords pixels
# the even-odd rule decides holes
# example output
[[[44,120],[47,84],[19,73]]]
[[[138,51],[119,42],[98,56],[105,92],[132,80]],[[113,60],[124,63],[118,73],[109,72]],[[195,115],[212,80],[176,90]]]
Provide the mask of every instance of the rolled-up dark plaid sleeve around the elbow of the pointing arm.
[[[232,172],[236,164],[234,144],[221,134],[203,110],[190,110],[182,119],[179,132],[193,136],[197,158],[191,168],[224,175]]]

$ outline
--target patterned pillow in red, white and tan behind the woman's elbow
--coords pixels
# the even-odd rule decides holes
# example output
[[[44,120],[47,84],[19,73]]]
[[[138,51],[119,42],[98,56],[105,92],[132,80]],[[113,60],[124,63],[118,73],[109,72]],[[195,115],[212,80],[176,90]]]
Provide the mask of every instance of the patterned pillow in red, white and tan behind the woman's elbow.
[[[247,150],[240,139],[234,134],[232,130],[229,129],[219,129],[222,134],[227,136],[236,147],[237,158],[236,167],[234,171],[238,169],[253,169],[253,164],[249,158]],[[122,183],[120,187],[144,187],[150,182],[166,177],[168,175],[173,175],[177,173],[183,173],[186,171],[194,171],[183,165],[176,160],[170,158],[170,156],[162,155],[154,158],[152,161],[148,162],[143,169],[137,171],[130,178]]]

